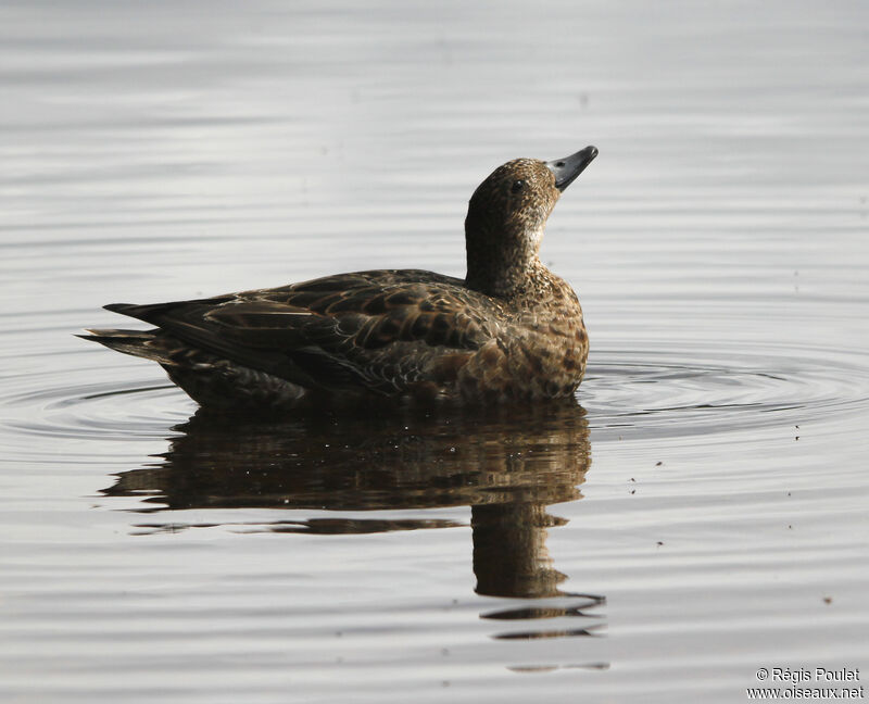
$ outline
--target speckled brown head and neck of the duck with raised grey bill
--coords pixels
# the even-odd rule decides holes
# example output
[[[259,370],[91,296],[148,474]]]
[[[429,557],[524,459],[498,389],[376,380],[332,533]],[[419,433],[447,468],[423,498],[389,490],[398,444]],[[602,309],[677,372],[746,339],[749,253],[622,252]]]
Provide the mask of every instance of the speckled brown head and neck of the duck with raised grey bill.
[[[596,155],[585,147],[550,162],[515,159],[479,185],[465,218],[468,288],[506,298],[522,288],[542,266],[538,252],[552,209]]]

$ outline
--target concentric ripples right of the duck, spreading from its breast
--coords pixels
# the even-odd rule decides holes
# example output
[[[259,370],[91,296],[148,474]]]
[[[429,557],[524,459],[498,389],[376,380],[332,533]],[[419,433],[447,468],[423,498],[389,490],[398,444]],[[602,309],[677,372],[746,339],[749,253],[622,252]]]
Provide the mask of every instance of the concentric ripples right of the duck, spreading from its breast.
[[[710,347],[596,352],[580,388],[592,428],[689,436],[829,420],[869,407],[865,354]]]

